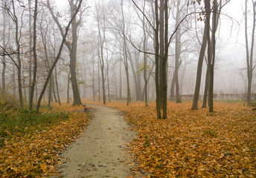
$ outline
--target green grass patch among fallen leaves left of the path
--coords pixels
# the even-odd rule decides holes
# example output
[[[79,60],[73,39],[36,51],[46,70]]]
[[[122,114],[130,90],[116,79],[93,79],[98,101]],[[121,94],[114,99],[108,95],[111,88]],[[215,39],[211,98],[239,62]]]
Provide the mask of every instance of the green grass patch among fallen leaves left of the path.
[[[42,131],[51,125],[69,118],[69,113],[36,113],[36,111],[23,110],[20,113],[0,114],[0,147],[5,139],[16,136],[16,133]]]

